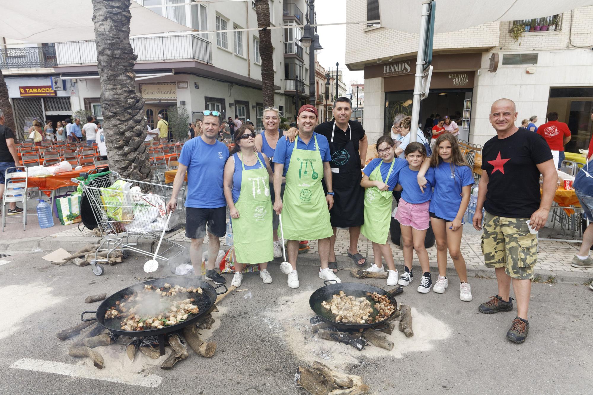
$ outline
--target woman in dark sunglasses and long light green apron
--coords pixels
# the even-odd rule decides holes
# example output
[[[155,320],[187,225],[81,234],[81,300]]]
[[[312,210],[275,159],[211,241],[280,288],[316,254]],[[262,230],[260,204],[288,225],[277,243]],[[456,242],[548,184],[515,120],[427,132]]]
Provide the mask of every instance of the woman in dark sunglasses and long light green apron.
[[[224,168],[224,196],[231,215],[235,275],[241,286],[244,265],[260,265],[264,284],[272,282],[267,263],[274,259],[272,244],[272,168],[266,154],[255,152],[256,133],[244,123],[235,132],[235,148]]]

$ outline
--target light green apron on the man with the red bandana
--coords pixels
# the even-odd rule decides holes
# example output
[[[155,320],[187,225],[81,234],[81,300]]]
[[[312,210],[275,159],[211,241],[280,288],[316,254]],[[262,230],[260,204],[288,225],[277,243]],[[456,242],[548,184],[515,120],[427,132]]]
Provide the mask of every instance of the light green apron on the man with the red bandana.
[[[333,235],[326,195],[321,186],[323,161],[317,136],[314,138],[315,151],[298,149],[298,136],[295,138],[282,199],[282,227],[286,240],[318,240]]]

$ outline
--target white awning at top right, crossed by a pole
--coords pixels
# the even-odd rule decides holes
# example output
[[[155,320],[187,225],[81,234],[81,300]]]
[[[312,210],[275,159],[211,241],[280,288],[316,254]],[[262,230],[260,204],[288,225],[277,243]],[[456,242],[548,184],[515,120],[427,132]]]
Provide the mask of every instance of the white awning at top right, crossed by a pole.
[[[593,0],[436,0],[435,33],[489,22],[548,17],[593,5]],[[419,33],[422,1],[379,0],[381,26]]]

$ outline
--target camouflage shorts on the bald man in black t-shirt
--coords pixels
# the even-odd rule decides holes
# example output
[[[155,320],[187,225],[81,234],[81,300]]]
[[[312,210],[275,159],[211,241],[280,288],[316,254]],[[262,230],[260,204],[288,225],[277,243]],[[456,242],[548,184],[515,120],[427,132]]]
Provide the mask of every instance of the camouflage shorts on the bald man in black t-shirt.
[[[537,263],[537,235],[531,234],[529,218],[506,218],[486,212],[482,253],[486,267],[505,267],[512,278],[533,278]]]

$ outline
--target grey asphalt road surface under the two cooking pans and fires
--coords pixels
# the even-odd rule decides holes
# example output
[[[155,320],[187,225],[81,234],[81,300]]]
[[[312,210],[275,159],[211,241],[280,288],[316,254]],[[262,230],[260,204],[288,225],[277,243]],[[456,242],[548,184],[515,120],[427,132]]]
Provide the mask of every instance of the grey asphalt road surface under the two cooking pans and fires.
[[[361,375],[376,394],[578,394],[593,392],[593,291],[581,284],[535,283],[531,295],[530,334],[523,345],[505,339],[515,313],[480,314],[478,305],[496,294],[494,279],[472,278],[474,300],[462,302],[458,279],[442,295],[419,294],[415,279],[398,295],[413,307],[415,336],[398,332],[387,352],[369,346],[359,352],[339,343],[316,340],[305,324],[308,295],[320,286],[314,254],[299,256],[299,289],[286,286],[277,264],[274,282],[244,276],[214,313],[215,327],[205,331],[218,343],[211,359],[190,351],[185,361],[164,371],[144,355],[132,364],[125,343],[101,349],[106,368],[98,371],[86,358],[68,356],[73,340],[55,333],[79,322],[88,295],[116,292],[151,276],[144,258],[106,267],[103,276],[90,266],[58,267],[43,254],[18,254],[0,266],[0,389],[11,394],[305,394],[294,384],[298,365],[314,360]],[[346,266],[346,261],[342,266]],[[155,277],[167,276],[160,270]],[[343,280],[385,286],[382,280]],[[225,275],[230,283],[231,275]],[[247,291],[239,291],[247,289]],[[250,293],[251,299],[246,298]],[[122,339],[123,340],[123,339]]]

